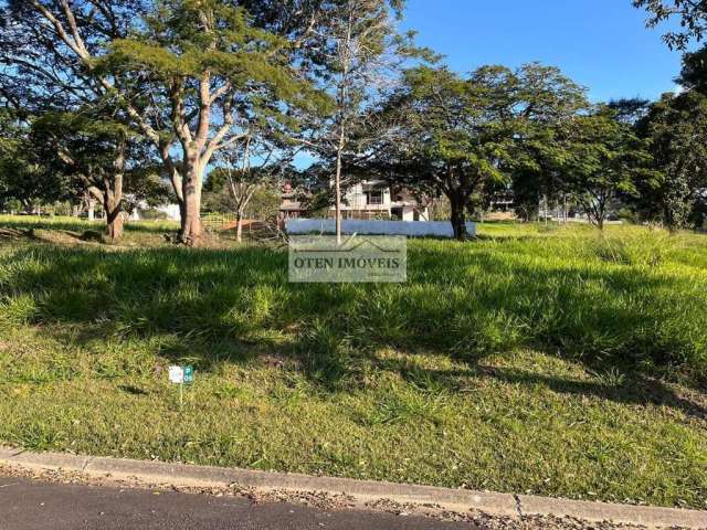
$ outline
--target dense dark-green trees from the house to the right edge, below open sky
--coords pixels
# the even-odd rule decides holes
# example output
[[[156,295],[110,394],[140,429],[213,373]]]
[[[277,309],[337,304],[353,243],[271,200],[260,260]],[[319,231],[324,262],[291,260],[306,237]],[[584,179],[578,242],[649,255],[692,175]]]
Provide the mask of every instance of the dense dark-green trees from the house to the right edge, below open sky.
[[[609,215],[701,229],[707,216],[707,51],[685,56],[682,91],[658,102],[590,103],[557,68],[484,66],[468,76],[419,66],[378,112],[374,149],[351,166],[451,206],[465,221],[497,198],[537,219],[568,204],[603,229]]]

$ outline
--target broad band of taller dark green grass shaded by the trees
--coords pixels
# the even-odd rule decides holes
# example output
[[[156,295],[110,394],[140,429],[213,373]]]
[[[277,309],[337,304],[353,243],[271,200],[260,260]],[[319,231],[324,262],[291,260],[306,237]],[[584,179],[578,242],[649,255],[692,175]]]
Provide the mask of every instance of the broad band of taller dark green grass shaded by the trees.
[[[483,245],[436,242],[409,252],[408,284],[334,285],[288,283],[286,253],[265,247],[107,253],[33,245],[0,254],[0,296],[31,297],[32,324],[80,326],[66,339],[77,343],[167,337],[161,357],[191,356],[202,370],[276,351],[326,391],[356,386],[381,348],[469,367],[535,348],[591,369],[620,365],[642,389],[655,389],[647,378],[666,367],[705,369],[707,300],[675,276],[567,265],[541,253],[514,257]],[[548,377],[545,384],[562,383]],[[630,399],[630,390],[605,396]],[[656,395],[682,407],[665,389]]]

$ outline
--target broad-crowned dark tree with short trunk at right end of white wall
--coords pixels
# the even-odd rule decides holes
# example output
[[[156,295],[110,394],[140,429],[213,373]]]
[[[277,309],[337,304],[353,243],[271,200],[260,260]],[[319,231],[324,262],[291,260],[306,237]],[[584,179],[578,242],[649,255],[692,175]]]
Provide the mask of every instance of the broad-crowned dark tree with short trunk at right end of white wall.
[[[583,104],[581,87],[538,64],[516,72],[484,66],[466,78],[419,66],[380,112],[389,134],[381,135],[373,166],[384,178],[444,194],[454,234],[465,240],[473,198],[507,181],[539,131]]]

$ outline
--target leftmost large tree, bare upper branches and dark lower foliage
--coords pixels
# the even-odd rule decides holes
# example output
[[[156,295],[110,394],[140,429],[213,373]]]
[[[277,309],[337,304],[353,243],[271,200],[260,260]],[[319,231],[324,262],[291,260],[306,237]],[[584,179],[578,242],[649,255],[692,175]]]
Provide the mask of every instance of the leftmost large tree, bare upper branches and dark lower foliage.
[[[127,132],[122,131],[128,123],[116,104],[114,88],[125,87],[125,96],[134,95],[136,87],[128,80],[106,81],[93,75],[95,64],[89,57],[105,53],[110,42],[127,36],[143,4],[143,0],[11,0],[0,6],[7,30],[0,36],[0,91],[36,116],[32,138],[46,171],[62,176],[76,193],[91,189],[99,195],[107,235],[113,240],[123,232]],[[91,163],[83,165],[88,159]],[[97,174],[86,173],[88,168]],[[73,179],[78,174],[93,179],[93,183]],[[101,183],[99,194],[96,182]]]

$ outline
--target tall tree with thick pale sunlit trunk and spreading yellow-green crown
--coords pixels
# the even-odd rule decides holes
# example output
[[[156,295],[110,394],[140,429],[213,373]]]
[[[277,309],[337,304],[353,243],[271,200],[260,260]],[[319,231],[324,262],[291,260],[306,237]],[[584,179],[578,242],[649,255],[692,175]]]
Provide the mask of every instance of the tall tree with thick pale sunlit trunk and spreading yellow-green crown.
[[[136,39],[113,44],[109,64],[147,72],[168,102],[181,149],[181,239],[197,244],[203,173],[213,155],[250,135],[252,121],[291,120],[317,94],[297,76],[288,43],[223,0],[169,1]],[[285,107],[285,108],[284,108]]]

